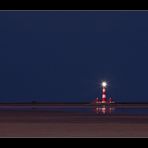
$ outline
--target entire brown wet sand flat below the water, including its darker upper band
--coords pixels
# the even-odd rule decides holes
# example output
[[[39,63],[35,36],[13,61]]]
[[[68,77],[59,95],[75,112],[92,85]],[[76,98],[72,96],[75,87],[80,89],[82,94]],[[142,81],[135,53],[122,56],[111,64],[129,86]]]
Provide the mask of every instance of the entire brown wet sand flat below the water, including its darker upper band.
[[[148,116],[5,110],[0,137],[148,137]]]

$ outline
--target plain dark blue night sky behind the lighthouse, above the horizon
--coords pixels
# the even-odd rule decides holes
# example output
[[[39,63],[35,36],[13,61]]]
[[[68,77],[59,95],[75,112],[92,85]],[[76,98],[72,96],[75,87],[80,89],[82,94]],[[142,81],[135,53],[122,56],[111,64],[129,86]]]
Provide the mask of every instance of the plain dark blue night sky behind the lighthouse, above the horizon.
[[[1,11],[0,101],[148,102],[147,11]]]

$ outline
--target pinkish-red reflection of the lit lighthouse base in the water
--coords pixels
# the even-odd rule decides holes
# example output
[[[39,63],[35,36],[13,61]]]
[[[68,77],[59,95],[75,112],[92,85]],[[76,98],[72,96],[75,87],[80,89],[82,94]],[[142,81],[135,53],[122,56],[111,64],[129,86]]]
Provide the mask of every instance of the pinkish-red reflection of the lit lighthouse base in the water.
[[[95,108],[96,114],[112,114],[114,112],[115,108],[111,106],[97,106]]]

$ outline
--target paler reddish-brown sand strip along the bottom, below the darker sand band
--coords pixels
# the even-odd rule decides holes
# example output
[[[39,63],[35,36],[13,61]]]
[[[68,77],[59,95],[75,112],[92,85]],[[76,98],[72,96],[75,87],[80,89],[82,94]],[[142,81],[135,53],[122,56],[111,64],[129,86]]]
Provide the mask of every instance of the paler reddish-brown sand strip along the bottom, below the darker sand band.
[[[145,124],[2,123],[0,137],[148,137]]]

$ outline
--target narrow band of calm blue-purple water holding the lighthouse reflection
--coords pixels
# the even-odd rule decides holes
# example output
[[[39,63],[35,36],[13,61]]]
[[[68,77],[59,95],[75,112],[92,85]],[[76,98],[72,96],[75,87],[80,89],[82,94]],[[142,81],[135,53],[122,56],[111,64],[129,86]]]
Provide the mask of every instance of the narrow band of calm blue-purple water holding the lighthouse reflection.
[[[148,115],[148,107],[92,107],[92,106],[0,106],[0,111],[49,111],[96,115]]]

